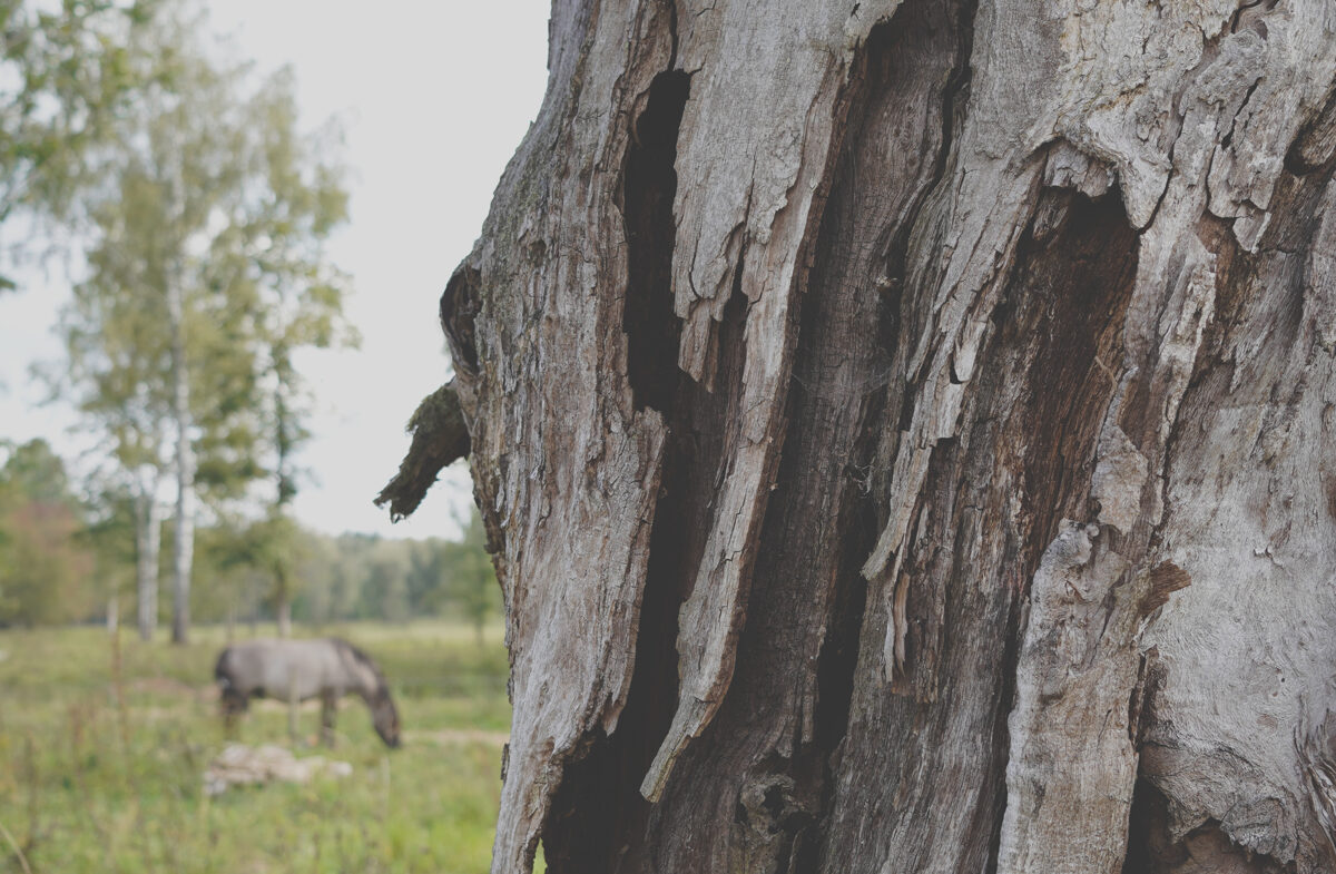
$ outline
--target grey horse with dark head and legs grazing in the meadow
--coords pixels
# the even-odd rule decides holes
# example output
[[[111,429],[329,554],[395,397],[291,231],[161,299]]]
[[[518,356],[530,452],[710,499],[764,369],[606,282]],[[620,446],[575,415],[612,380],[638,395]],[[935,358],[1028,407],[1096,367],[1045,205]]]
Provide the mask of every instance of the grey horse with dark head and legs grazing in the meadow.
[[[223,649],[214,667],[222,690],[222,711],[228,730],[251,698],[279,698],[289,703],[287,727],[297,735],[297,703],[321,699],[321,735],[334,743],[338,699],[359,695],[371,711],[371,724],[386,746],[399,746],[399,714],[385,675],[365,652],[338,637],[321,640],[248,640]]]

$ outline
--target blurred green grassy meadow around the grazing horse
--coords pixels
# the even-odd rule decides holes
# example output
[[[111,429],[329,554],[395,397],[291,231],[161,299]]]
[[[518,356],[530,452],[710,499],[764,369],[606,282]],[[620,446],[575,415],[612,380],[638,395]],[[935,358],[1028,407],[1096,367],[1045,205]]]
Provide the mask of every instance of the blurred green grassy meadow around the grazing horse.
[[[211,798],[203,771],[226,743],[212,688],[222,628],[195,629],[186,647],[123,631],[119,670],[102,628],[0,631],[0,871],[486,871],[510,712],[500,627],[482,645],[442,623],[322,632],[381,663],[403,746],[386,750],[347,698],[337,747],[321,748],[307,704],[294,751],[349,762],[350,776]],[[286,707],[253,707],[238,740],[291,746]]]

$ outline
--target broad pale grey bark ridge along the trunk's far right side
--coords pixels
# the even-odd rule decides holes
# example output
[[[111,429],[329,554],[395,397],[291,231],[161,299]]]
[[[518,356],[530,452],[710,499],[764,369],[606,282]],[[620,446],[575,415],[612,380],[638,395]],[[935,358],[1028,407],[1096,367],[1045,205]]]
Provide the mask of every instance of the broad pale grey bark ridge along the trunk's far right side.
[[[1327,412],[1336,390],[1332,178],[1329,159],[1291,164],[1272,196],[1277,221],[1256,251],[1224,222],[1202,227],[1217,254],[1216,318],[1165,450],[1156,544],[1193,585],[1148,629],[1162,679],[1140,736],[1129,835],[1129,859],[1146,859],[1154,874],[1192,870],[1189,854],[1240,871],[1332,863],[1304,759],[1297,768],[1291,760],[1303,730],[1289,722],[1297,714],[1300,727],[1323,724],[1336,647],[1325,619],[1269,612],[1276,603],[1321,604],[1321,616],[1336,608]],[[1249,645],[1244,632],[1284,645]],[[1198,714],[1190,732],[1181,728],[1185,714]],[[1226,774],[1246,779],[1229,786],[1220,782]]]

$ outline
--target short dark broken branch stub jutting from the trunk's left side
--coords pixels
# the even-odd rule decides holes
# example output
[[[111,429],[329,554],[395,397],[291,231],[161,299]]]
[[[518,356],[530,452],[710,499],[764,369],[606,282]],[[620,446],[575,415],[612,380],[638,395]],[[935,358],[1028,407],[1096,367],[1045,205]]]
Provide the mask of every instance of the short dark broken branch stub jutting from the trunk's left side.
[[[469,454],[469,428],[453,380],[422,398],[405,430],[413,434],[409,452],[375,496],[377,506],[389,504],[395,523],[413,515],[442,468]]]

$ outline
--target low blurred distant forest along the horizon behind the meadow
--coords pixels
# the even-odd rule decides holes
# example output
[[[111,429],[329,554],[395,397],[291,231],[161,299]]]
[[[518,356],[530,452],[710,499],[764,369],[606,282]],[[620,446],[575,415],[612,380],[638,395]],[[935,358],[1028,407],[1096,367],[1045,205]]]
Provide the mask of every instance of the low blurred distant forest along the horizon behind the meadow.
[[[135,519],[127,494],[80,496],[41,440],[0,444],[0,627],[135,616]],[[265,521],[214,519],[196,531],[191,613],[199,623],[275,617],[274,556],[294,569],[293,620],[480,625],[501,609],[476,511],[460,540],[331,537],[298,528],[275,541]],[[163,572],[171,556],[163,531]],[[163,616],[170,604],[160,604]]]

